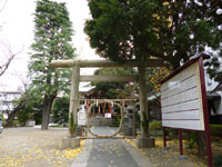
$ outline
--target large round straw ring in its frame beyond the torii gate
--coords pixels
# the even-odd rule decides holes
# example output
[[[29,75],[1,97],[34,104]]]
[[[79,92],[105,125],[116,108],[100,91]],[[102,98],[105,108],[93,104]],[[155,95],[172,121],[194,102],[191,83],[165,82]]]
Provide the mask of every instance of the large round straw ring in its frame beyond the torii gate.
[[[89,137],[88,132],[97,138],[112,138],[121,131],[123,132],[123,121],[125,107],[132,106],[137,99],[80,99],[80,105],[85,108],[85,127],[87,132],[81,132]],[[134,110],[133,110],[134,112]],[[133,131],[135,131],[135,116],[133,115]],[[78,117],[78,121],[79,121]],[[111,135],[98,135],[91,130],[93,127],[118,127]],[[134,132],[132,132],[134,135]]]

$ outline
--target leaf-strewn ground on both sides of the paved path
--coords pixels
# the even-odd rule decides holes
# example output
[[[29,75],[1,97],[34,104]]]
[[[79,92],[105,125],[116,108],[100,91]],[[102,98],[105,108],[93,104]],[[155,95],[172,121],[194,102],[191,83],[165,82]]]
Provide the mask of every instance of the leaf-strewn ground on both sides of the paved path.
[[[0,134],[0,167],[69,167],[83,147],[62,149],[62,137],[68,136],[68,129],[53,128],[7,128]],[[137,147],[137,139],[125,139]],[[206,159],[199,158],[194,150],[186,149],[186,159],[179,159],[179,144],[168,141],[169,149],[163,149],[161,138],[155,139],[155,148],[140,149],[155,167],[206,167]],[[222,147],[213,145],[214,153],[221,153]],[[85,150],[87,151],[87,150]]]

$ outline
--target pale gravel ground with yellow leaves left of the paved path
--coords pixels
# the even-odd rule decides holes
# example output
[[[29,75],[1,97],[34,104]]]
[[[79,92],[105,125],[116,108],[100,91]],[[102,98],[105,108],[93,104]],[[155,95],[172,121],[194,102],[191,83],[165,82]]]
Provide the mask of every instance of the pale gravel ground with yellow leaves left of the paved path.
[[[62,149],[68,129],[7,128],[0,135],[0,167],[67,167],[78,149]]]

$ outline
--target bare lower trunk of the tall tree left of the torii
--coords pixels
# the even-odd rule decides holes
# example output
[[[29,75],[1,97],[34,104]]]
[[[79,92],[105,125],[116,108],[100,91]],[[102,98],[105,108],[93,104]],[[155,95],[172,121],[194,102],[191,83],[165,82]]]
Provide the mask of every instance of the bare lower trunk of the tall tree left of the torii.
[[[47,95],[44,95],[43,110],[42,110],[42,125],[41,125],[42,130],[48,129],[50,112],[51,112],[54,98],[56,96],[48,97]]]

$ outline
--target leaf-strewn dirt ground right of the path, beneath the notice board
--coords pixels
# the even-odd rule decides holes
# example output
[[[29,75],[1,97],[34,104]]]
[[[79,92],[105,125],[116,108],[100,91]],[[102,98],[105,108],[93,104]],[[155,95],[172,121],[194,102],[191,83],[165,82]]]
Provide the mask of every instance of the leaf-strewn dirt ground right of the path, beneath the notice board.
[[[125,139],[133,147],[137,147],[137,139]],[[222,146],[212,144],[213,156],[222,154]],[[140,151],[149,158],[155,167],[208,167],[208,158],[199,157],[198,149],[188,149],[185,141],[183,141],[183,151],[185,159],[180,158],[179,141],[168,141],[168,148],[163,148],[162,138],[155,138],[154,148],[140,149]]]

